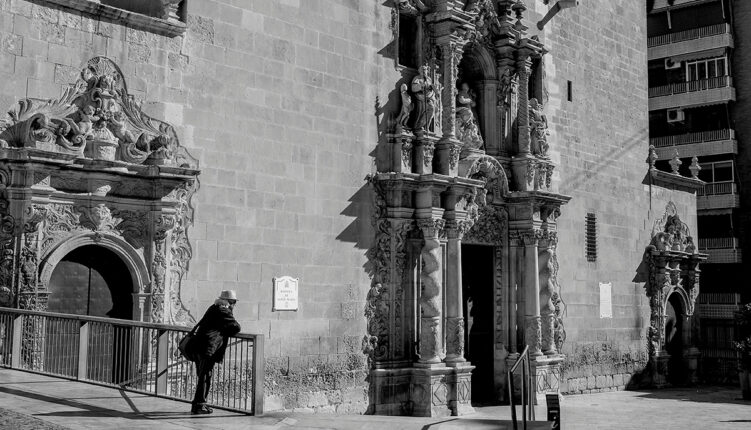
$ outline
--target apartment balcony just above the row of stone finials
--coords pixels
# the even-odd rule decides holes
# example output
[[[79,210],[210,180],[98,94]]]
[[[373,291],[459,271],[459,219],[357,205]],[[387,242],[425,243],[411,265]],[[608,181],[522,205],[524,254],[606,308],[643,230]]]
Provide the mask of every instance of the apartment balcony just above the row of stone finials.
[[[653,137],[649,144],[655,147],[660,160],[673,158],[675,149],[681,158],[738,153],[738,141],[732,129]]]

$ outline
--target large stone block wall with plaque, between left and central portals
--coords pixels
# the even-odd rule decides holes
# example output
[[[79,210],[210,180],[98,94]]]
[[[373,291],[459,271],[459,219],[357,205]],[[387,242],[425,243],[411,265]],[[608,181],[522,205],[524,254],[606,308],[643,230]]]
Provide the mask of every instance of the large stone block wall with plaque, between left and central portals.
[[[334,0],[190,1],[169,38],[48,6],[0,0],[0,108],[56,98],[85,62],[120,65],[144,110],[200,160],[182,284],[195,319],[237,290],[243,331],[266,336],[266,410],[364,412],[363,192],[376,100],[398,76],[379,51],[390,9]],[[300,279],[297,312],[272,312],[272,277]],[[331,406],[333,405],[333,406]],[[338,406],[337,406],[338,405]]]

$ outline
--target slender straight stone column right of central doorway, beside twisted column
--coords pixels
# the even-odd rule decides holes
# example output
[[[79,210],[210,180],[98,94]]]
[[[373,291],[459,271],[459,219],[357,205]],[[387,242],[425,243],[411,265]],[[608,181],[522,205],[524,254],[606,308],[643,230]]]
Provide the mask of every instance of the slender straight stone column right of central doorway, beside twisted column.
[[[540,278],[538,273],[537,237],[534,232],[523,235],[524,239],[524,340],[529,345],[532,357],[542,355],[540,321]]]

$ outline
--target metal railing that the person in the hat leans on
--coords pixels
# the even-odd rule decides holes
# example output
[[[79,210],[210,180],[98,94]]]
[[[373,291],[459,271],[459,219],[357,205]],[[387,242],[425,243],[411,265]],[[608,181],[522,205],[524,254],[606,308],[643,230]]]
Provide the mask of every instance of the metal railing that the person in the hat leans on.
[[[0,308],[0,366],[191,401],[195,365],[177,345],[190,329]],[[263,335],[229,338],[208,403],[263,413]]]

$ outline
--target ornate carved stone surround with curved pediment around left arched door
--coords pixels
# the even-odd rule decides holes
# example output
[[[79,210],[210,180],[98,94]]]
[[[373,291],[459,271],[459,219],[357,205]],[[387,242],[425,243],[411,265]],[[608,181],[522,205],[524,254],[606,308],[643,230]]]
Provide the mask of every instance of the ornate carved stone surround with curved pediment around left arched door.
[[[59,99],[24,99],[0,121],[2,306],[45,310],[70,251],[98,245],[133,280],[133,317],[186,324],[198,161],[141,111],[118,66],[92,58]]]

